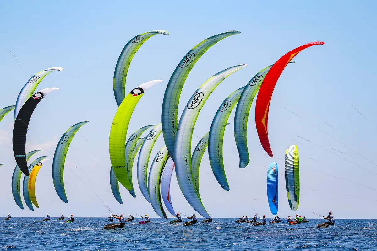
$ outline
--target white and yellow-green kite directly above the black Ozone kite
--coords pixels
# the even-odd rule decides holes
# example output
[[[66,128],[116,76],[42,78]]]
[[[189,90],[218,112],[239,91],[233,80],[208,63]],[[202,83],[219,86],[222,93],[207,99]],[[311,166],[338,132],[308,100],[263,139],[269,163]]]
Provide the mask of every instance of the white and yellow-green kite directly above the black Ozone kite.
[[[20,94],[18,94],[15,109],[14,109],[14,121],[17,119],[17,114],[20,112],[21,107],[25,104],[31,95],[34,93],[35,88],[42,81],[42,79],[47,76],[52,71],[62,71],[61,67],[52,67],[46,70],[40,71],[34,76],[32,76],[29,81],[22,87]]]

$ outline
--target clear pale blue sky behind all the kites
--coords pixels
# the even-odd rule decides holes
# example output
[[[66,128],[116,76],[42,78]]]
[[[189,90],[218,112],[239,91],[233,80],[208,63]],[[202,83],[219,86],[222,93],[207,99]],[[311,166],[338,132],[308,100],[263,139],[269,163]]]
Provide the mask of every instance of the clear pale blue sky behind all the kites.
[[[26,151],[42,149],[33,157],[50,158],[37,176],[40,207],[34,211],[25,202],[26,208],[21,210],[12,197],[11,178],[16,165],[12,112],[0,122],[0,163],[5,163],[0,167],[0,214],[106,217],[108,207],[116,214],[158,217],[137,185],[136,198],[123,187],[123,205],[113,198],[109,132],[118,107],[112,78],[121,50],[136,35],[162,29],[170,35],[155,35],[144,43],[128,71],[126,92],[153,79],[163,82],[141,98],[127,137],[142,126],[161,122],[166,84],[192,47],[221,32],[241,31],[211,47],[185,82],[179,114],[210,76],[233,65],[248,64],[225,79],[208,98],[193,131],[192,149],[209,131],[216,110],[231,92],[288,51],[313,41],[325,43],[297,55],[296,63],[287,66],[276,84],[268,120],[274,157],[268,157],[259,143],[255,102],[248,121],[250,163],[245,169],[238,167],[234,141],[236,109],[228,120],[231,126],[225,131],[223,155],[230,191],[219,186],[208,154],[204,154],[199,187],[202,202],[213,218],[253,216],[254,211],[271,217],[266,174],[273,161],[279,169],[280,217],[298,213],[316,218],[314,213],[327,215],[331,210],[336,218],[376,218],[376,11],[375,1],[2,1],[0,106],[14,105],[23,85],[38,71],[54,66],[64,71],[50,73],[37,87],[60,90],[40,102],[29,124]],[[54,189],[52,158],[61,135],[84,120],[89,123],[77,132],[66,157],[66,204]],[[293,144],[300,157],[297,211],[289,207],[284,179],[285,149]],[[163,145],[161,135],[150,163]],[[136,168],[133,177],[136,184]],[[171,197],[176,211],[186,215],[195,212],[185,201],[175,175]]]

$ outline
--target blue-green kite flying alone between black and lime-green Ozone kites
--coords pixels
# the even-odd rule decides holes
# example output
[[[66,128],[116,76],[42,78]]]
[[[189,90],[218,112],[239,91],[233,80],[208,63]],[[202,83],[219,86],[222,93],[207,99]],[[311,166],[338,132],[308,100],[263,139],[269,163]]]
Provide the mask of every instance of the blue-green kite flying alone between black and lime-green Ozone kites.
[[[68,199],[66,191],[64,190],[64,163],[66,161],[67,151],[78,129],[88,122],[89,121],[83,121],[71,126],[61,136],[55,149],[54,160],[52,161],[52,181],[54,181],[54,187],[59,198],[66,203],[68,203]]]

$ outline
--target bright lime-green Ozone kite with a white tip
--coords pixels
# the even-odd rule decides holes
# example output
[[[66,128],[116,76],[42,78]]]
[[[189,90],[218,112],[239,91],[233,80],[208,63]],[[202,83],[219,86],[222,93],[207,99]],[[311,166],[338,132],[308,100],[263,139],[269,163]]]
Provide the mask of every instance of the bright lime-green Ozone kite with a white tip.
[[[135,106],[140,98],[144,95],[144,92],[146,92],[150,87],[159,82],[162,82],[162,80],[153,80],[146,82],[139,85],[129,94],[127,94],[121,105],[118,107],[118,110],[116,111],[113,119],[113,123],[111,125],[109,137],[111,166],[113,167],[115,176],[118,181],[128,190],[131,190],[132,187],[128,179],[127,172],[124,172],[122,170],[126,169],[124,146],[126,145],[128,125],[133,110],[135,109]]]

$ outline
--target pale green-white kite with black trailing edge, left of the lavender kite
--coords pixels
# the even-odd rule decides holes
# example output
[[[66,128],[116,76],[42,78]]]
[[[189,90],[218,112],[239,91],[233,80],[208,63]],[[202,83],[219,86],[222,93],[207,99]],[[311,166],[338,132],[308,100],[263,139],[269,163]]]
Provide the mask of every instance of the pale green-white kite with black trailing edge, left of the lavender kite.
[[[152,204],[153,210],[155,210],[156,214],[165,219],[167,219],[167,216],[164,211],[164,207],[162,206],[160,184],[162,171],[164,170],[168,158],[169,152],[167,151],[166,146],[164,146],[153,159],[148,176],[148,192],[150,196],[150,203]]]

